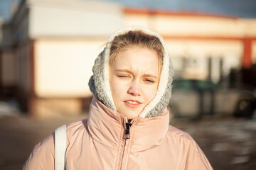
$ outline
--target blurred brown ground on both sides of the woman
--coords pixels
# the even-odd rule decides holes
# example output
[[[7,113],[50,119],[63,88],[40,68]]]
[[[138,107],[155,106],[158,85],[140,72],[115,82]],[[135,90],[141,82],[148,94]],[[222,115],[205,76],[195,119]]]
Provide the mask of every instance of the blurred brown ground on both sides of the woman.
[[[0,169],[22,169],[36,143],[60,125],[87,118],[87,114],[33,118],[18,111],[1,110]],[[8,106],[6,106],[8,108]],[[188,132],[215,170],[256,169],[256,119],[209,115],[199,119],[171,119],[171,125]]]

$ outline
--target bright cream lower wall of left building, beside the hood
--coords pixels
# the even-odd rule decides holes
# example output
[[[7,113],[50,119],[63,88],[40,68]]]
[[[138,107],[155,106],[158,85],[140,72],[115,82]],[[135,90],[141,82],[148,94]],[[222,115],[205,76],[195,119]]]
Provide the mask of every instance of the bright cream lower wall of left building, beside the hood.
[[[35,91],[40,97],[91,96],[88,81],[107,40],[35,42]]]

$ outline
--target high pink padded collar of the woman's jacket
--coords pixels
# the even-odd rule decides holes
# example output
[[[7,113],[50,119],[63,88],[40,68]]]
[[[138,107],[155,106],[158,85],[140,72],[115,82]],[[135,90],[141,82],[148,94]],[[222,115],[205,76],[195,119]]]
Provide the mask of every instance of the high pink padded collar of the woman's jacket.
[[[125,123],[124,115],[107,108],[97,98],[92,98],[87,129],[93,140],[117,149],[119,143],[124,141]],[[153,118],[135,118],[127,145],[130,145],[131,152],[140,152],[161,145],[168,127],[167,109],[160,116]]]

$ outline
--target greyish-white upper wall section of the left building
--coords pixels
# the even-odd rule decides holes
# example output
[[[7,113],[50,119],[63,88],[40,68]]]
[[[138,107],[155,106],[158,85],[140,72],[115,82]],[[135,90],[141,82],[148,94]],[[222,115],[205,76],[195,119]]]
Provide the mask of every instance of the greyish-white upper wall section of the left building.
[[[117,4],[54,2],[33,0],[29,3],[29,34],[32,39],[108,37],[122,26],[123,12]]]

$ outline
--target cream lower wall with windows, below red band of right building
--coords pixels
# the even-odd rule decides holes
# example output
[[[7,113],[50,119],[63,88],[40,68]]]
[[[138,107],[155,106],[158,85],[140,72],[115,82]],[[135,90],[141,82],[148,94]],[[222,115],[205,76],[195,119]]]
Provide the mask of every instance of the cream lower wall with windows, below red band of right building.
[[[212,78],[218,81],[219,59],[223,58],[224,74],[230,68],[239,68],[243,51],[242,42],[236,40],[171,40],[166,39],[166,46],[173,58],[174,69],[182,72],[184,78],[206,79],[208,77],[208,57],[213,58]],[[183,70],[183,59],[190,61]]]

